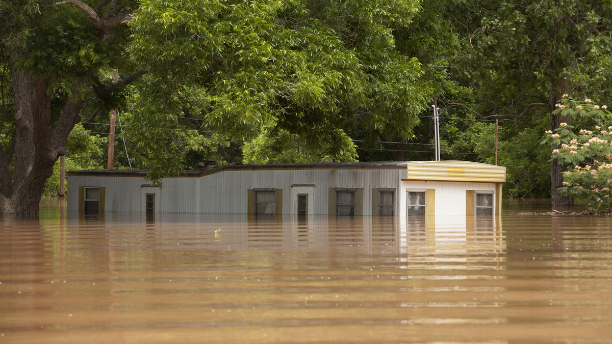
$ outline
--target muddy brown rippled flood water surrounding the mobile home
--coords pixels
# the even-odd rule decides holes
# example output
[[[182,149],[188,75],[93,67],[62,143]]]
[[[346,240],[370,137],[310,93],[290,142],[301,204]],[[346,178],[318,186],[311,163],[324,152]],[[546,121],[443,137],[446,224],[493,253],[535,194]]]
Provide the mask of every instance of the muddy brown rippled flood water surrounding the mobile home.
[[[0,218],[0,343],[612,341],[612,218]],[[62,207],[63,208],[63,207]]]

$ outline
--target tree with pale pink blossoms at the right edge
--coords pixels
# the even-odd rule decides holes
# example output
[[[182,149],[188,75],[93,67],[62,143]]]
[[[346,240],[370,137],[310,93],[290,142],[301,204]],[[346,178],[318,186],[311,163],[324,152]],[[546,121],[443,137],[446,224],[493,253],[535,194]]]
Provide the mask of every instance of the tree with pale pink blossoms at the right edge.
[[[575,126],[561,123],[548,130],[545,143],[551,144],[553,159],[570,164],[563,172],[562,194],[586,200],[594,211],[612,209],[612,113],[606,105],[590,99],[574,100],[564,95],[555,110],[570,116]]]

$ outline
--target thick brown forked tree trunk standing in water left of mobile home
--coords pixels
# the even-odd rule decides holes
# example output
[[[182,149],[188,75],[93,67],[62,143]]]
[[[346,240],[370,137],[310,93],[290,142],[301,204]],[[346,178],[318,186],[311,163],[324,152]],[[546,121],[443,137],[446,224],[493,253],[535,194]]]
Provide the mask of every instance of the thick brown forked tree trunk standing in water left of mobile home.
[[[84,94],[78,92],[79,85],[76,85],[74,94],[83,97],[67,100],[59,119],[51,123],[53,95],[49,86],[52,79],[32,78],[15,67],[11,71],[15,141],[7,151],[2,149],[0,171],[9,171],[10,161],[14,162],[15,168],[12,175],[3,173],[0,177],[0,213],[38,214],[45,181],[53,174],[53,165],[58,157],[65,155],[65,142],[78,123]],[[84,81],[80,82],[80,86],[89,89]]]

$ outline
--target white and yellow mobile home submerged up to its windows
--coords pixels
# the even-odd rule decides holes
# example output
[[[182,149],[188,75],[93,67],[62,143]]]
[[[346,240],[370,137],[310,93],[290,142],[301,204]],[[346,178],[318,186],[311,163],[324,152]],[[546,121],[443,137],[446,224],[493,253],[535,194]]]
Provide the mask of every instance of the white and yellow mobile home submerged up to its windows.
[[[147,170],[68,173],[71,213],[347,216],[499,214],[506,167],[470,161],[234,165],[145,179]]]

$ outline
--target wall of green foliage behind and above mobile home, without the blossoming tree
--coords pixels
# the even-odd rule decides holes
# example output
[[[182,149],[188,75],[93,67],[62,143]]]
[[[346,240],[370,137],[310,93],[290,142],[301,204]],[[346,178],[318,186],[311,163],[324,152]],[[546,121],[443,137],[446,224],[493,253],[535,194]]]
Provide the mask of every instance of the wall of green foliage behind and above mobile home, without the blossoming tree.
[[[561,88],[612,100],[608,2],[127,1],[133,18],[106,41],[82,10],[53,3],[0,0],[0,34],[26,42],[21,68],[53,76],[52,115],[76,80],[95,81],[67,169],[106,165],[111,109],[115,166],[152,169],[153,181],[207,159],[430,160],[436,97],[442,159],[494,163],[498,119],[504,195],[548,197],[551,101]],[[15,109],[1,53],[6,148]],[[113,68],[120,80],[146,73],[115,85]],[[45,192],[58,189],[54,174]]]

